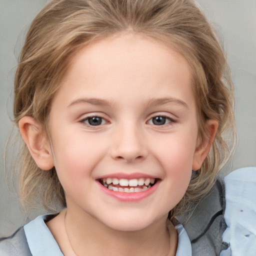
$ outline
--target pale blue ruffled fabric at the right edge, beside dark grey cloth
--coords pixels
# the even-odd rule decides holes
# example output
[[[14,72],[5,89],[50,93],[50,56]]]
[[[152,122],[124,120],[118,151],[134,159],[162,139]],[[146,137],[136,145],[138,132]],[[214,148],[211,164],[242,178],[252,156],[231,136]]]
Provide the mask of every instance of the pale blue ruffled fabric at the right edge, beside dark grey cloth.
[[[223,241],[230,244],[220,256],[256,255],[256,167],[243,167],[224,177],[227,228]]]

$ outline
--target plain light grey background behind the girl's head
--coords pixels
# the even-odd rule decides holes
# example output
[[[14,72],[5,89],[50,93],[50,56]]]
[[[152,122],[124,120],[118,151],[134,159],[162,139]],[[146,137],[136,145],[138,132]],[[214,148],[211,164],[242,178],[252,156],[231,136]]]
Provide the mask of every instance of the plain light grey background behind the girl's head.
[[[0,155],[12,126],[11,90],[16,59],[29,22],[47,0],[0,0]],[[238,144],[230,168],[256,165],[256,0],[198,0],[215,25],[235,84]],[[12,233],[28,217],[5,185],[0,159],[0,236]]]

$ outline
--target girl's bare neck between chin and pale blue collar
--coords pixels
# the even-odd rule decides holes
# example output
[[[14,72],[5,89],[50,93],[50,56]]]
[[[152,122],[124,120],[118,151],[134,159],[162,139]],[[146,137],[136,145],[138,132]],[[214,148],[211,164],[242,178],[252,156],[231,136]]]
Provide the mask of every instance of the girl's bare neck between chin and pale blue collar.
[[[65,229],[76,256],[84,255],[175,255],[177,234],[166,218],[137,231],[109,228],[87,213],[65,213]],[[99,246],[100,244],[100,246]]]

